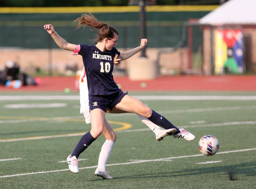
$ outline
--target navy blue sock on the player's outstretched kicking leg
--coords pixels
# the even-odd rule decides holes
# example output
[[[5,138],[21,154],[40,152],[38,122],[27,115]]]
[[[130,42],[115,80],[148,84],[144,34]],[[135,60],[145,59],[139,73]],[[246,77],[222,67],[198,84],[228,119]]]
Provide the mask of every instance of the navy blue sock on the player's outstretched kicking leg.
[[[155,123],[156,125],[163,127],[164,129],[176,129],[175,135],[180,133],[179,128],[175,127],[171,122],[169,122],[164,116],[156,113],[152,110],[152,115],[148,118],[151,122]]]

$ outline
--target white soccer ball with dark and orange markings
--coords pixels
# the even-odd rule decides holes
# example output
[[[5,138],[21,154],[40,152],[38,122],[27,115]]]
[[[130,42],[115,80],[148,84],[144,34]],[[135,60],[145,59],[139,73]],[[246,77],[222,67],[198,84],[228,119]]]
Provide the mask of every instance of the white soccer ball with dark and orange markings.
[[[217,138],[205,135],[199,140],[198,147],[202,154],[210,156],[218,152],[220,145]]]

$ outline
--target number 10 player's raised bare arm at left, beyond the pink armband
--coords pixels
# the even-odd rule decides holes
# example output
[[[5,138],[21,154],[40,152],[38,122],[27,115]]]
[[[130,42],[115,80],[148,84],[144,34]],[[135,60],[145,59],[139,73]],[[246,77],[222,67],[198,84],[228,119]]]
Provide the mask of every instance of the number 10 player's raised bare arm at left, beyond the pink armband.
[[[76,45],[68,43],[65,39],[60,37],[60,35],[54,30],[52,24],[45,24],[44,29],[46,29],[46,31],[52,36],[52,39],[61,49],[68,51],[76,50]]]

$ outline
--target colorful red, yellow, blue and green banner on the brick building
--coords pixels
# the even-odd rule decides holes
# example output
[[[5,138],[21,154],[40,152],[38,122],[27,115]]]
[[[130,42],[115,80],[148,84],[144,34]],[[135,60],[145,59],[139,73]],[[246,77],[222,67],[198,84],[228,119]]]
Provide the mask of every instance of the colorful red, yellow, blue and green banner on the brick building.
[[[241,29],[215,31],[215,74],[244,72],[243,33]]]

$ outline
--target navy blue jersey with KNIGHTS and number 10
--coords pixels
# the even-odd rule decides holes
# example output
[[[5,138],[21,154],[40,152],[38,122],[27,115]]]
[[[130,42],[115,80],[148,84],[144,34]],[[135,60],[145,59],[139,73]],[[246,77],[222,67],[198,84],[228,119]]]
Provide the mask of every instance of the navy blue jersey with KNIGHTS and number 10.
[[[118,91],[112,71],[115,47],[111,51],[100,51],[95,45],[80,44],[79,54],[83,56],[89,95],[109,95]]]

